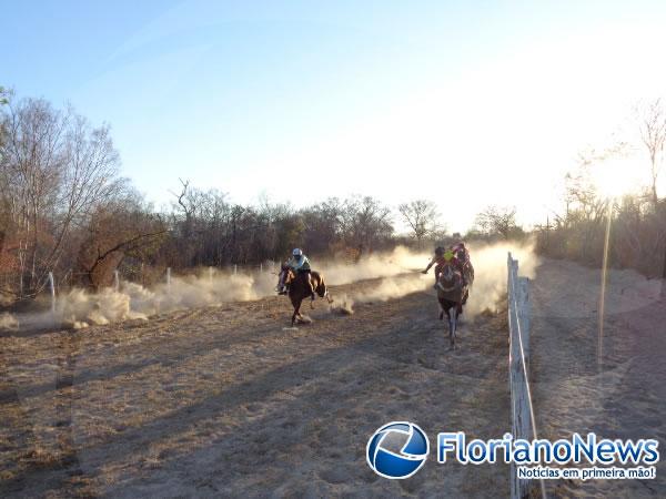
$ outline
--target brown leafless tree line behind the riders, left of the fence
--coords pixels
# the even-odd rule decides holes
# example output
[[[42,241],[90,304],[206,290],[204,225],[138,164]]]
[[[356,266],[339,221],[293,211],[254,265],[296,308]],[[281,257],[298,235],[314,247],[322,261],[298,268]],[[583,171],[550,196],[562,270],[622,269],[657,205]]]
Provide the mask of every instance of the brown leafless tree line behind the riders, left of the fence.
[[[397,213],[360,195],[301,208],[266,198],[242,205],[188,180],[172,194],[170,208],[155,210],[120,175],[108,124],[0,88],[0,304],[38,296],[49,273],[61,285],[99,288],[117,269],[150,284],[165,267],[281,261],[294,246],[355,262],[397,243],[425,248],[446,238],[426,200]],[[397,221],[408,235],[396,234]]]

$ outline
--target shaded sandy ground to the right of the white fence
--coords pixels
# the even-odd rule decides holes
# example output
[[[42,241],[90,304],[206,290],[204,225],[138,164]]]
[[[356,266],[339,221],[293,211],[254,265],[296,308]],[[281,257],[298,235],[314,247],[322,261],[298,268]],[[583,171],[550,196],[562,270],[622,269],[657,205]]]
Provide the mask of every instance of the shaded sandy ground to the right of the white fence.
[[[545,261],[532,285],[532,377],[541,438],[595,431],[666,444],[666,299],[660,282],[610,271],[599,333],[601,272]],[[546,480],[549,497],[666,497],[655,480]]]

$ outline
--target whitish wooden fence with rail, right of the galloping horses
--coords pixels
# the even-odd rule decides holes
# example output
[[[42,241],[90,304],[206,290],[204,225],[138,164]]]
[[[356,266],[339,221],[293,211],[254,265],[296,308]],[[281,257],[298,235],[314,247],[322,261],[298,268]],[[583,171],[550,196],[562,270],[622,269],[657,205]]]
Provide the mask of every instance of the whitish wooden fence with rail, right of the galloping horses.
[[[536,439],[534,406],[529,386],[529,279],[518,277],[518,261],[508,253],[507,258],[507,308],[508,308],[508,384],[511,390],[511,426],[514,439]],[[522,499],[533,493],[532,480],[518,479],[515,462],[511,464],[511,498]],[[545,499],[543,480],[541,493]]]

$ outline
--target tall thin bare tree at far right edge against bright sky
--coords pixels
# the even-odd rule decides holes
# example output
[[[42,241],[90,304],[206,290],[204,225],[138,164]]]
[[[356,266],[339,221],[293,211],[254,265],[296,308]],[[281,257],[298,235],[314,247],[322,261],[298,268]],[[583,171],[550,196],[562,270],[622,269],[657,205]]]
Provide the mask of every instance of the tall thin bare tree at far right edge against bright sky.
[[[640,139],[647,149],[650,165],[650,194],[655,210],[659,198],[657,196],[657,177],[664,161],[664,145],[666,144],[666,110],[660,99],[639,104],[636,108]]]

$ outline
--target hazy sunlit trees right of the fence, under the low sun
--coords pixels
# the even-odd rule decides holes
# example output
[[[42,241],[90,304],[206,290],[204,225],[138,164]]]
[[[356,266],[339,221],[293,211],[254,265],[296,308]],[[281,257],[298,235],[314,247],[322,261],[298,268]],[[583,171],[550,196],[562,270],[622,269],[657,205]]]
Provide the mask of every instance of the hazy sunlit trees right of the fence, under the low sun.
[[[610,266],[666,278],[666,202],[657,190],[666,144],[664,102],[657,99],[636,104],[629,130],[633,133],[623,140],[579,153],[577,166],[564,179],[563,207],[536,226],[537,249],[593,266],[601,266],[607,254]],[[626,157],[633,157],[627,167],[646,173],[645,186],[615,196],[605,194],[592,169],[619,175],[612,181],[623,182],[623,172],[604,173],[603,169]]]

